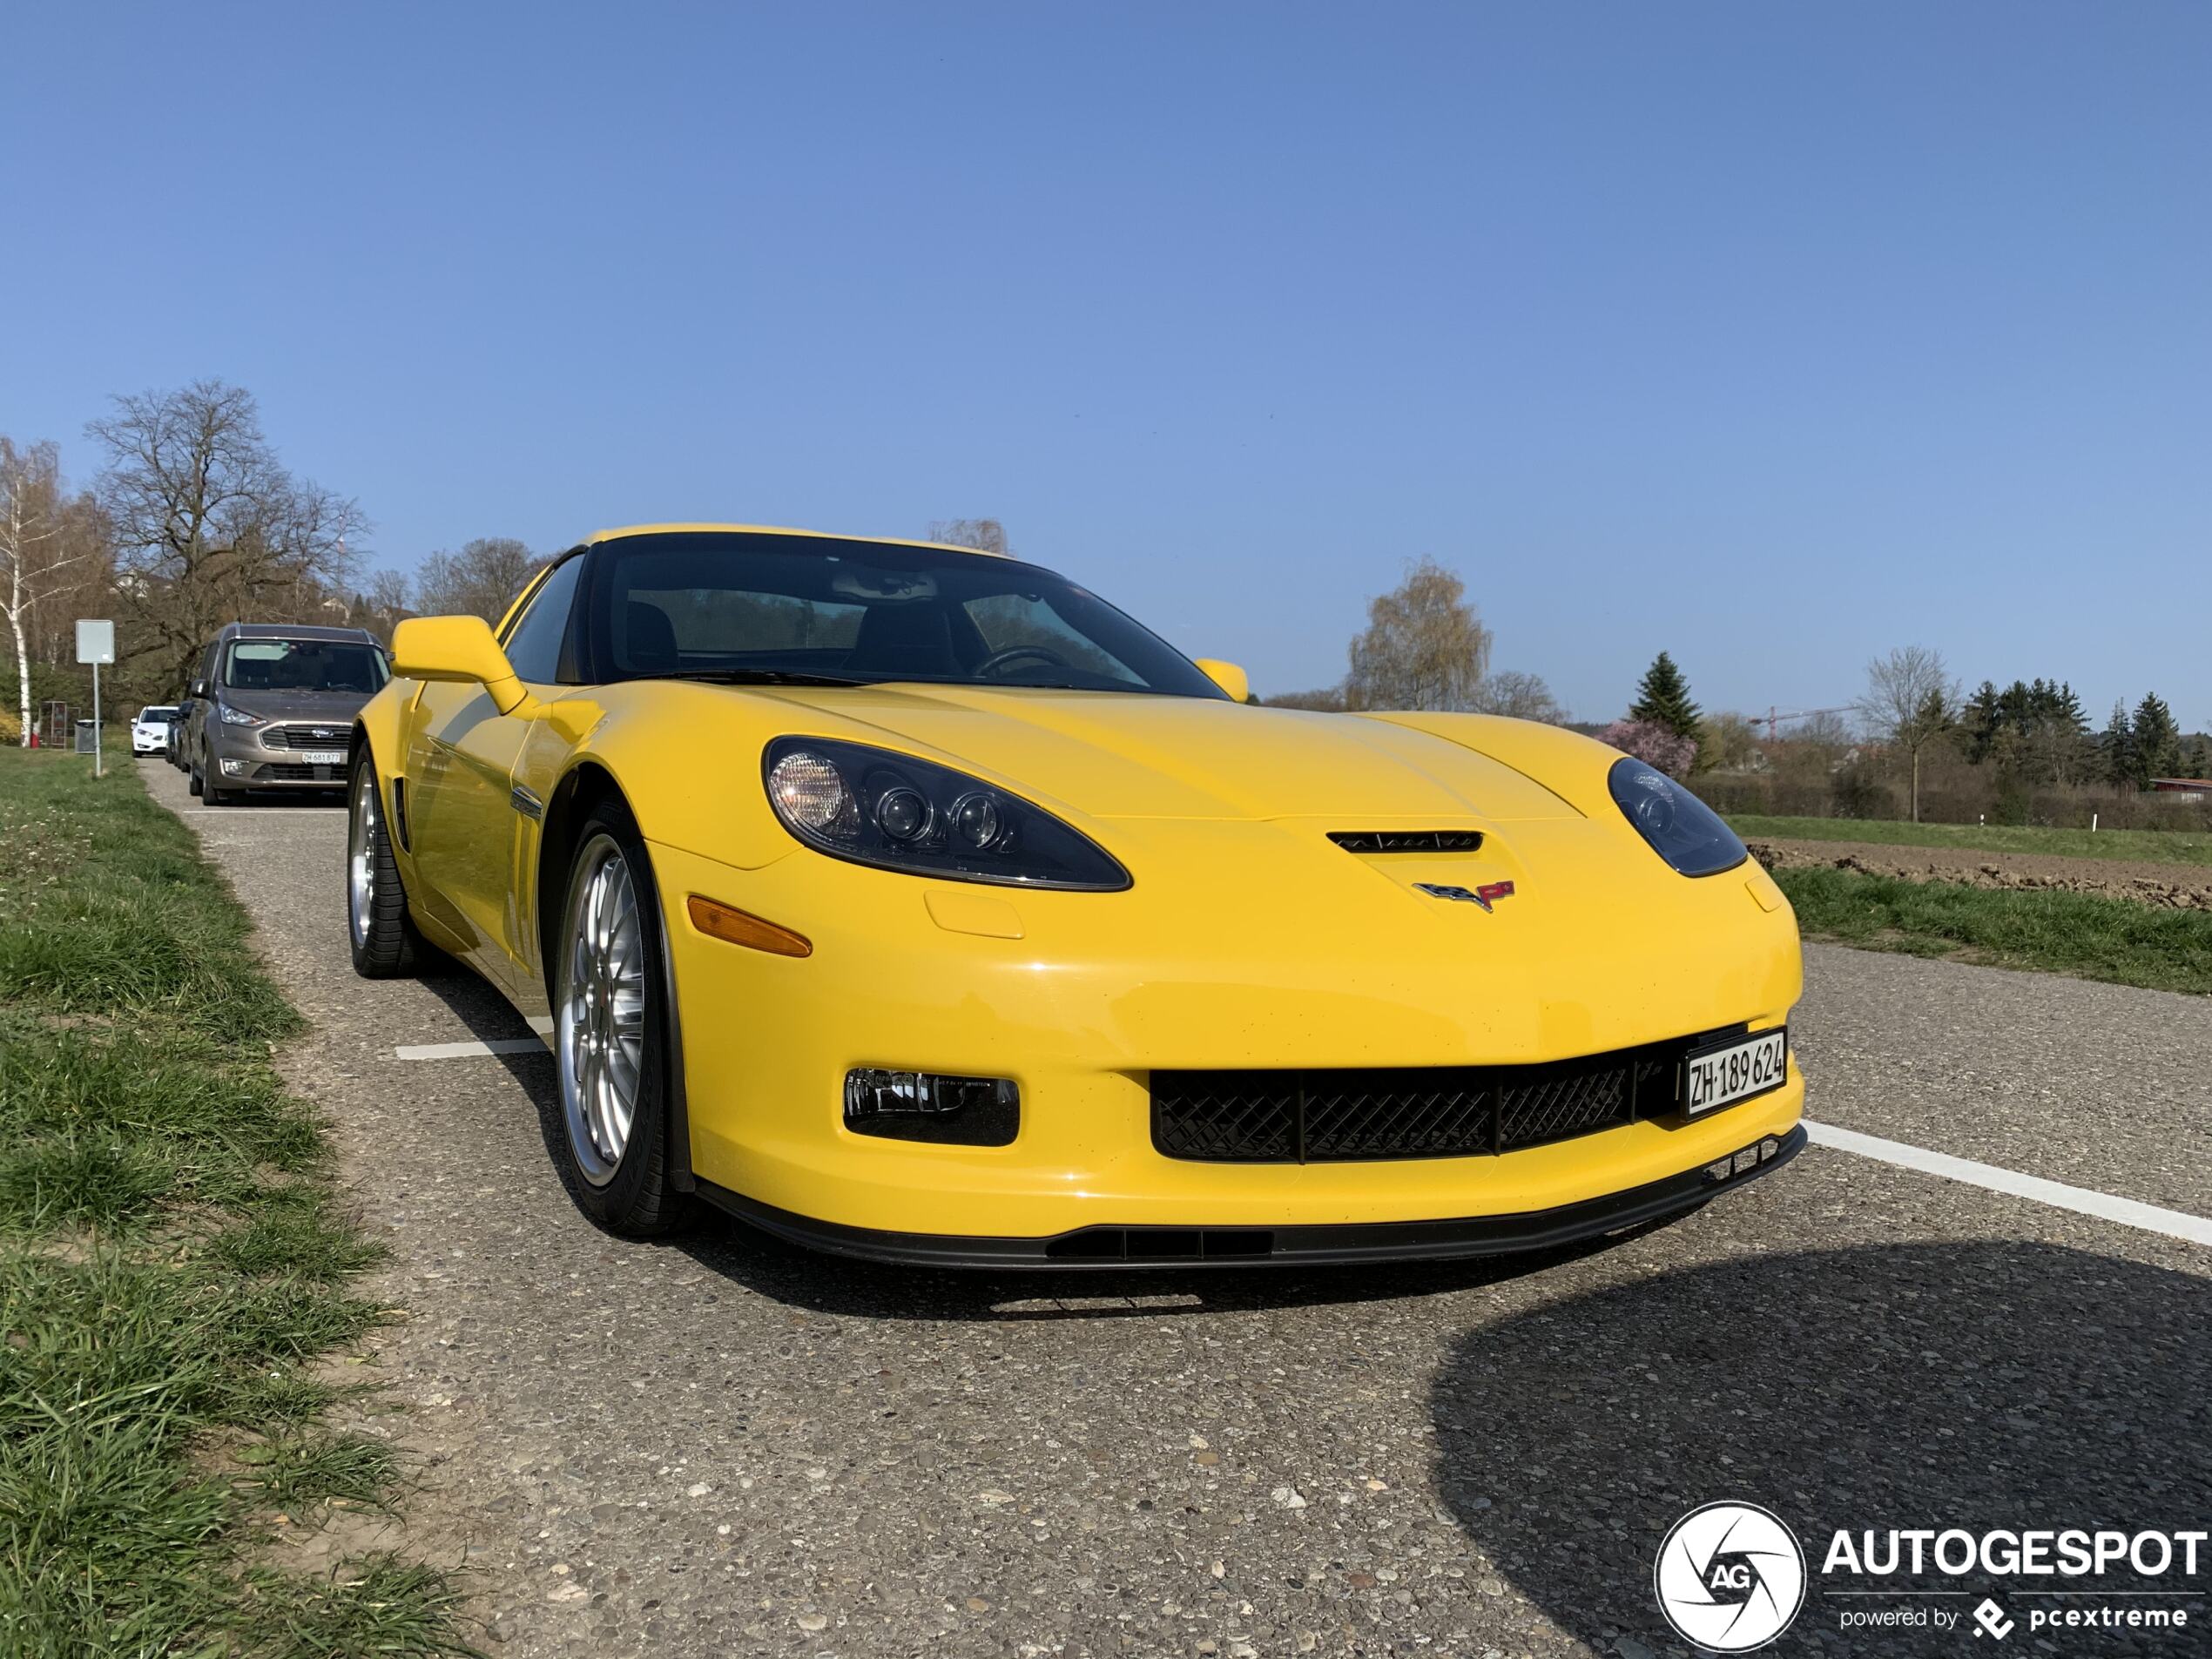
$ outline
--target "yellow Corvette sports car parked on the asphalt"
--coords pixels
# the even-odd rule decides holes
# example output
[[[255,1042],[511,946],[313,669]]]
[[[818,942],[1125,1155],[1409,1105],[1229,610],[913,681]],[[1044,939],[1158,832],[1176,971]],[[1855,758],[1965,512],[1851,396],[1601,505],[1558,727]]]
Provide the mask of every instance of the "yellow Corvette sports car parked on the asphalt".
[[[1553,1245],[1790,1159],[1796,920],[1641,761],[1248,703],[922,542],[657,524],[403,622],[354,964],[551,1011],[562,1177],[989,1267]]]

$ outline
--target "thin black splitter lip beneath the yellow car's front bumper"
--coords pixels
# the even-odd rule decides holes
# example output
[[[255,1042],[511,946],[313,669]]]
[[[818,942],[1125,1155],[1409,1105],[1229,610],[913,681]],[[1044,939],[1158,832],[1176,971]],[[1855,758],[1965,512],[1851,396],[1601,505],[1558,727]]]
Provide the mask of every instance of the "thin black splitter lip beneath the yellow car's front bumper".
[[[721,1210],[787,1243],[860,1261],[907,1267],[995,1267],[1079,1272],[1124,1267],[1356,1267],[1385,1261],[1462,1261],[1526,1250],[1559,1250],[1608,1232],[1686,1214],[1721,1192],[1734,1192],[1805,1150],[1805,1130],[1765,1137],[1767,1155],[1741,1175],[1712,1177],[1694,1168],[1626,1192],[1520,1214],[1453,1221],[1369,1221],[1296,1228],[1110,1228],[1091,1225],[1046,1239],[991,1234],[885,1232],[776,1210],[712,1181],[699,1194]],[[1754,1148],[1761,1141],[1752,1144]]]

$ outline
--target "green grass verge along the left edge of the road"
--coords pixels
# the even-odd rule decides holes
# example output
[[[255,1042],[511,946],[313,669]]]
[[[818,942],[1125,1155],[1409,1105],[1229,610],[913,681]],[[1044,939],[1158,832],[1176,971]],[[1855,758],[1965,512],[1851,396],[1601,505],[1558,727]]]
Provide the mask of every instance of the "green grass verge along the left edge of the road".
[[[246,929],[128,770],[0,750],[0,1652],[469,1650],[436,1571],[272,1566],[398,1469],[327,1420],[374,1248]]]

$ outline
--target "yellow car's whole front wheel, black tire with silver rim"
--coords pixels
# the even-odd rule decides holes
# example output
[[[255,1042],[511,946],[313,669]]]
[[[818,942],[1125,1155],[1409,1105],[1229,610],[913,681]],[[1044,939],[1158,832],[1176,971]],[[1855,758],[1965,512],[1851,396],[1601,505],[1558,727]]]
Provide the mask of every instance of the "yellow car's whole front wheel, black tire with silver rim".
[[[661,951],[661,905],[644,836],[628,807],[604,801],[577,830],[546,975],[557,1073],[546,1139],[575,1206],[633,1239],[664,1237],[692,1219],[688,1194],[668,1179]],[[624,1073],[628,1124],[617,1126]]]

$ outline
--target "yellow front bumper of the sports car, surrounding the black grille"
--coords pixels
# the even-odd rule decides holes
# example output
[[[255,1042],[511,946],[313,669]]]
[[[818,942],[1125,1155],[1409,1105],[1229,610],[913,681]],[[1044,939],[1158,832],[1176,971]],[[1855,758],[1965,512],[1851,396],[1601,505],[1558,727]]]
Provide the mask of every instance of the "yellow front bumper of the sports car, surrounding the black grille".
[[[1148,834],[1133,823],[1117,841],[1141,858]],[[1562,1217],[1597,1214],[1579,1206],[1624,1194],[1694,1203],[1666,1183],[1781,1139],[1803,1115],[1792,1064],[1783,1088],[1694,1121],[1637,1119],[1504,1155],[1166,1157],[1152,1144],[1152,1071],[1601,1055],[1734,1022],[1774,1026],[1801,991],[1794,918],[1756,867],[1690,883],[1635,843],[1663,880],[1637,883],[1641,863],[1610,880],[1606,836],[1564,825],[1551,841],[1571,867],[1509,865],[1522,889],[1495,914],[1391,909],[1371,883],[1427,872],[1394,863],[1336,898],[1294,854],[1272,867],[1270,834],[1252,825],[1181,823],[1172,841],[1208,834],[1219,852],[1152,860],[1133,891],[1108,896],[949,889],[803,852],[734,869],[655,843],[701,1190],[787,1237],[902,1261],[1002,1250],[1060,1265],[1066,1248],[1046,1254],[1051,1241],[1095,1228],[1265,1232],[1267,1259],[1467,1254],[1535,1248]],[[1301,836],[1283,832],[1292,847]],[[1230,911],[1221,869],[1239,872],[1250,905],[1232,896]],[[799,927],[814,953],[706,938],[686,922],[688,894]],[[1697,940],[1694,958],[1674,940]],[[1009,1146],[856,1135],[841,1115],[854,1066],[1011,1077],[1020,1133]]]

